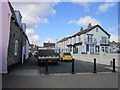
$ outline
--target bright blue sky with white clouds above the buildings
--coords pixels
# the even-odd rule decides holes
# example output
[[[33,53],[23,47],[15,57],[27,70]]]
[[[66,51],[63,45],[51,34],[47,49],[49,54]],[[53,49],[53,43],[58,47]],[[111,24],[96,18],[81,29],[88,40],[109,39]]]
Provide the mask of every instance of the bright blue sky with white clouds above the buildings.
[[[115,2],[17,2],[12,3],[27,24],[26,33],[31,43],[42,45],[56,42],[79,32],[80,27],[101,25],[118,40],[118,3]]]

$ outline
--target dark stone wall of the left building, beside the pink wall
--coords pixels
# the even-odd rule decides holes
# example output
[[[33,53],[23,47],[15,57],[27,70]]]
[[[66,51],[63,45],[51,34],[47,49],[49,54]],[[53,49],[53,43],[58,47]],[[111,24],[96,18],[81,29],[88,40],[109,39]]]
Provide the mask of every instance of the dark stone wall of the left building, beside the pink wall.
[[[18,27],[17,23],[13,22],[13,19],[11,19],[7,66],[10,66],[10,65],[13,65],[15,63],[21,62],[21,59],[22,59],[22,42],[23,42],[22,36],[23,36],[22,30]],[[17,55],[15,55],[15,40],[18,41]]]

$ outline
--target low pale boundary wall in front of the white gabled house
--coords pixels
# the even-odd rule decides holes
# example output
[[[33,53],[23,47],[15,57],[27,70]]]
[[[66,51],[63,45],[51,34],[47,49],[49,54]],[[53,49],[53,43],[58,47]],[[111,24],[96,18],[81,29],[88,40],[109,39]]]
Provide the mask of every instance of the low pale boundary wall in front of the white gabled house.
[[[94,58],[96,58],[96,62],[99,64],[110,65],[110,62],[115,58],[116,66],[120,65],[120,60],[118,59],[117,53],[101,53],[99,55],[95,54],[73,54],[73,57],[76,60],[82,60],[86,62],[94,62]],[[119,66],[120,67],[120,66]]]

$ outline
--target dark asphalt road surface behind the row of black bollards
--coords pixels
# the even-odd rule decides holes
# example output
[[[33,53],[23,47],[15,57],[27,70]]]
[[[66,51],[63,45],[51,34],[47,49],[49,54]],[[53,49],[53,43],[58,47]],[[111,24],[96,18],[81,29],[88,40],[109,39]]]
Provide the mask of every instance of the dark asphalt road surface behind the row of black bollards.
[[[75,60],[74,71],[75,73],[92,73],[93,63],[84,62],[80,60]],[[97,64],[97,72],[112,72],[108,69],[106,65]],[[57,65],[49,64],[48,72],[49,74],[61,74],[61,73],[71,73],[72,62],[59,62]],[[22,76],[39,76],[44,74],[45,65],[37,65],[37,59],[31,57],[24,64],[19,64],[13,70],[10,71],[9,75],[22,75]]]

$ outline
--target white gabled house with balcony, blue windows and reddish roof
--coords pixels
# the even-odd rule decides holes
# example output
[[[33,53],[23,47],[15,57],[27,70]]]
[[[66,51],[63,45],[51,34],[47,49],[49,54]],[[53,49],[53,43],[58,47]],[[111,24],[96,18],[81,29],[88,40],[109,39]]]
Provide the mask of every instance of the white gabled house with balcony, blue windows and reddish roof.
[[[92,26],[89,23],[88,28],[73,36],[63,38],[55,44],[60,52],[70,52],[72,54],[98,54],[109,52],[110,35],[100,26]]]

